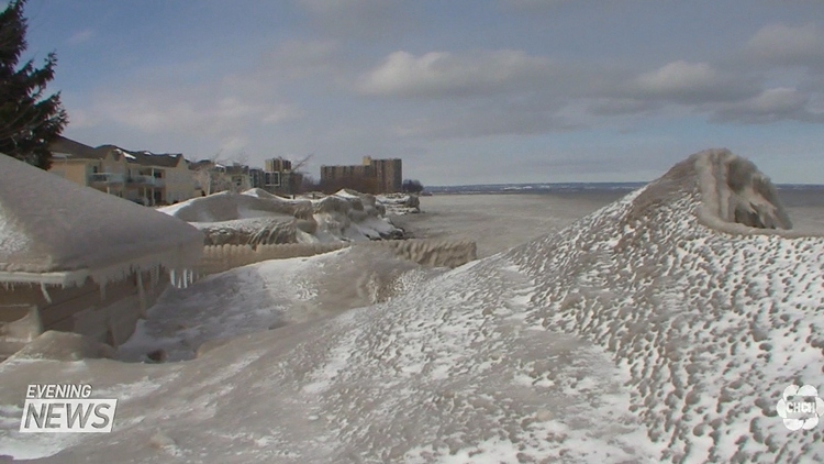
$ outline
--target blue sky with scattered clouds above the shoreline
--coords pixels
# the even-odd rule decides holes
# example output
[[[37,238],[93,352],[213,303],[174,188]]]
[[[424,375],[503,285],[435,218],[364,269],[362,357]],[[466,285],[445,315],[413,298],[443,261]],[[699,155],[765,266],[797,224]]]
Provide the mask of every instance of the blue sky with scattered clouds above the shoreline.
[[[424,185],[643,181],[727,147],[824,184],[819,0],[29,0],[64,135]]]

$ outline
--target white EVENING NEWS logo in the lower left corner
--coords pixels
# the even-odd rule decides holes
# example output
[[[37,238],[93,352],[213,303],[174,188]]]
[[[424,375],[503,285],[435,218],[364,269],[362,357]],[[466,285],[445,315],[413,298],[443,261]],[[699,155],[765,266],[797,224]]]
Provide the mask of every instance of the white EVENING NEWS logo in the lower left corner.
[[[109,433],[116,399],[91,398],[91,385],[30,385],[20,431],[24,433]]]

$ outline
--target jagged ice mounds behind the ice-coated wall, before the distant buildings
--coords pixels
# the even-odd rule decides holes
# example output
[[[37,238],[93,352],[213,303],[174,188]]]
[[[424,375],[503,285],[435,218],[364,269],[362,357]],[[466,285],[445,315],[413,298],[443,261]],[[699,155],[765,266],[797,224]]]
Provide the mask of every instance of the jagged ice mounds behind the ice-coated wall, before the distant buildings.
[[[358,242],[401,239],[403,231],[367,194],[341,190],[321,198],[286,199],[261,189],[220,192],[160,208],[192,223],[207,245]]]

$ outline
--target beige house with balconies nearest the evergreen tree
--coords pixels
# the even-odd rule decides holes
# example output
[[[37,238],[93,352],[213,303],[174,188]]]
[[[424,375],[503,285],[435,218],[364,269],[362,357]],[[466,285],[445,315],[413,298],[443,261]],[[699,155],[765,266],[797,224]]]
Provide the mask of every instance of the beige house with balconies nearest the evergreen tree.
[[[194,178],[181,154],[130,152],[114,145],[97,148],[58,137],[49,172],[75,184],[146,206],[194,197]]]

